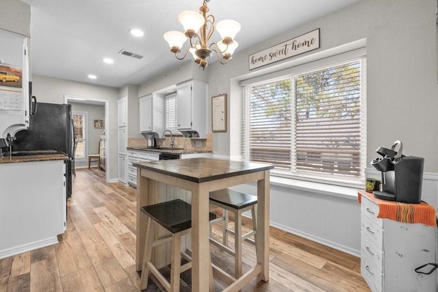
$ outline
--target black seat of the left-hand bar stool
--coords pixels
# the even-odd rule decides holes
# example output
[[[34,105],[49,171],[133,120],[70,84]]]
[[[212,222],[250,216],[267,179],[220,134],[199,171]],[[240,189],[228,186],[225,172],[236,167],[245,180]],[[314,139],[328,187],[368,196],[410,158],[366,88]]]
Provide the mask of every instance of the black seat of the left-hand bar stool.
[[[141,210],[171,233],[192,228],[192,205],[183,200],[176,199],[144,206]],[[209,220],[214,219],[216,215],[210,212]]]

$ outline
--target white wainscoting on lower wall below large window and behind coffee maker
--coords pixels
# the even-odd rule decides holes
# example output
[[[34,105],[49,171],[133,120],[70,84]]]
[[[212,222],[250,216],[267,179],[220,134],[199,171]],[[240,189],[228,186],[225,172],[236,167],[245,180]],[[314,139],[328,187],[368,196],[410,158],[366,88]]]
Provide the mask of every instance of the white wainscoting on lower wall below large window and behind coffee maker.
[[[216,157],[223,158],[223,157]],[[367,177],[379,177],[374,169],[365,170]],[[274,178],[271,177],[271,181]],[[333,186],[326,185],[327,189]],[[233,187],[237,191],[257,194],[255,183]],[[321,189],[305,190],[294,185],[271,183],[270,225],[317,241],[348,254],[361,256],[361,205],[357,190],[339,188],[340,194],[327,194]],[[422,200],[438,206],[438,174],[423,177]],[[250,217],[250,214],[246,214]]]

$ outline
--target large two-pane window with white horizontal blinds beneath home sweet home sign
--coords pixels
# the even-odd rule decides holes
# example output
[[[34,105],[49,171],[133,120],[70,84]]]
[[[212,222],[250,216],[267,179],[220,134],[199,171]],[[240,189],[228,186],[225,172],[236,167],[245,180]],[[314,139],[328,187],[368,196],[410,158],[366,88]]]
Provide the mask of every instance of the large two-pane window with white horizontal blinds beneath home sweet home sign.
[[[272,174],[363,184],[365,59],[246,85],[242,155]]]

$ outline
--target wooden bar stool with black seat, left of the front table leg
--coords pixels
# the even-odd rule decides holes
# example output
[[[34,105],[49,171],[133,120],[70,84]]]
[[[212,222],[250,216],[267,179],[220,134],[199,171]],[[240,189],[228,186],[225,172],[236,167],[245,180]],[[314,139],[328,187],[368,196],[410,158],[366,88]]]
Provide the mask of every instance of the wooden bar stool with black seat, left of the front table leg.
[[[142,277],[140,288],[147,288],[149,271],[162,283],[166,291],[178,292],[180,274],[192,267],[192,258],[185,252],[181,252],[181,236],[192,230],[192,205],[183,200],[171,200],[159,204],[151,204],[141,208],[147,216],[146,242],[144,243],[144,255],[142,264]],[[216,219],[214,213],[209,213],[209,220]],[[154,225],[159,224],[170,231],[171,235],[162,239],[153,240]],[[170,259],[170,282],[164,278],[157,267],[151,262],[152,248],[172,241]],[[188,261],[181,265],[181,255]],[[211,262],[211,258],[209,258]],[[210,265],[211,266],[211,265]],[[210,291],[214,291],[213,271],[210,271]]]

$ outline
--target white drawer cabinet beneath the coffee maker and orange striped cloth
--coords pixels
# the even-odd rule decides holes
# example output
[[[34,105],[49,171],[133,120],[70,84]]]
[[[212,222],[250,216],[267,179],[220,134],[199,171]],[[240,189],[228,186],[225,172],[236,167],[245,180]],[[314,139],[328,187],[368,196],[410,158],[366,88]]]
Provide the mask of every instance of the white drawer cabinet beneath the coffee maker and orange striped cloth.
[[[378,218],[376,202],[361,196],[361,274],[373,292],[438,291],[437,270],[414,271],[435,263],[437,227]]]

